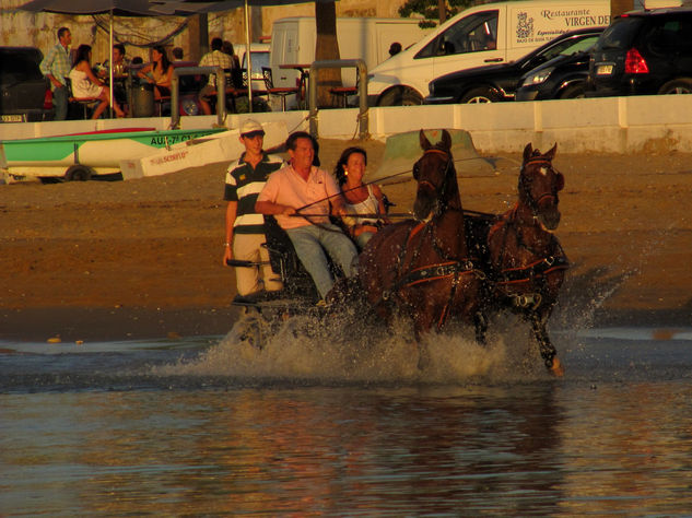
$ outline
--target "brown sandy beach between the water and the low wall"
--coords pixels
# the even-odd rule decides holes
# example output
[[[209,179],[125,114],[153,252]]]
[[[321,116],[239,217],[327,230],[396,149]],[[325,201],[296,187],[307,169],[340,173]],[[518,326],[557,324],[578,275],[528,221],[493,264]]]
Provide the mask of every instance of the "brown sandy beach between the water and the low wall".
[[[331,169],[349,141],[320,142]],[[368,170],[384,144],[368,141]],[[516,199],[520,151],[496,174],[459,179],[467,209]],[[599,323],[692,321],[692,165],[687,154],[574,155],[556,235],[574,263],[565,297],[602,306]],[[129,181],[0,186],[0,340],[128,340],[223,334],[236,309],[222,266],[225,165]],[[414,184],[383,189],[408,211]]]

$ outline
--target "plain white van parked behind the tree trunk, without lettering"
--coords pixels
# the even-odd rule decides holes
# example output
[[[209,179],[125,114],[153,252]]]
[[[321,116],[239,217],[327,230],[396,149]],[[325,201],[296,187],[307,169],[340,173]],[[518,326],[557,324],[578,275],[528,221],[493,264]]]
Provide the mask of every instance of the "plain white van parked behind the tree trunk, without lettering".
[[[367,70],[389,58],[389,46],[398,42],[407,48],[430,33],[419,20],[384,17],[338,17],[337,38],[341,59],[363,59]],[[300,72],[280,69],[280,64],[303,64],[315,61],[317,28],[314,16],[277,20],[271,30],[270,62],[274,86],[296,86]],[[354,69],[342,71],[344,86],[355,84]]]

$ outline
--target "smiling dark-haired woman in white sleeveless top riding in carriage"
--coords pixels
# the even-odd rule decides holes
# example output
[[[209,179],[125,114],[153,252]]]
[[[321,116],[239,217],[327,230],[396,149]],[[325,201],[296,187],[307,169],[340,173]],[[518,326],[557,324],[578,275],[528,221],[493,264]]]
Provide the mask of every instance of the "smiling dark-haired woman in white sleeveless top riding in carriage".
[[[345,198],[349,214],[372,214],[371,217],[353,219],[349,228],[359,249],[363,249],[377,232],[377,225],[386,223],[385,197],[376,184],[363,184],[367,153],[363,148],[347,148],[335,167],[335,176]]]

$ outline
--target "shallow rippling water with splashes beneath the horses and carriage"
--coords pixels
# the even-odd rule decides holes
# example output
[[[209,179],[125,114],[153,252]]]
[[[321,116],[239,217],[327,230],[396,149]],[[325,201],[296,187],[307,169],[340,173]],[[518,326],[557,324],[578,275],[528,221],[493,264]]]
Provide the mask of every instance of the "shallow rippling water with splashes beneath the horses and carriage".
[[[0,344],[0,515],[692,509],[692,329],[238,334]]]

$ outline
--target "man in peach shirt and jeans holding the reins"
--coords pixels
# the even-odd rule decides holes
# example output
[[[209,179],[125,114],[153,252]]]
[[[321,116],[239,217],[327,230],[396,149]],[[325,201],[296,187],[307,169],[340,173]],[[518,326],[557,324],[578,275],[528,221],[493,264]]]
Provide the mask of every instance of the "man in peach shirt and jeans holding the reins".
[[[329,221],[330,212],[338,216],[347,213],[337,181],[326,170],[313,165],[313,138],[305,131],[296,131],[286,140],[286,148],[290,165],[269,177],[257,198],[255,210],[277,216],[277,222],[286,231],[301,262],[313,278],[321,297],[318,304],[322,305],[335,283],[322,247],[349,278],[356,272],[357,251],[341,228]],[[300,214],[303,209],[316,215],[293,215]]]

